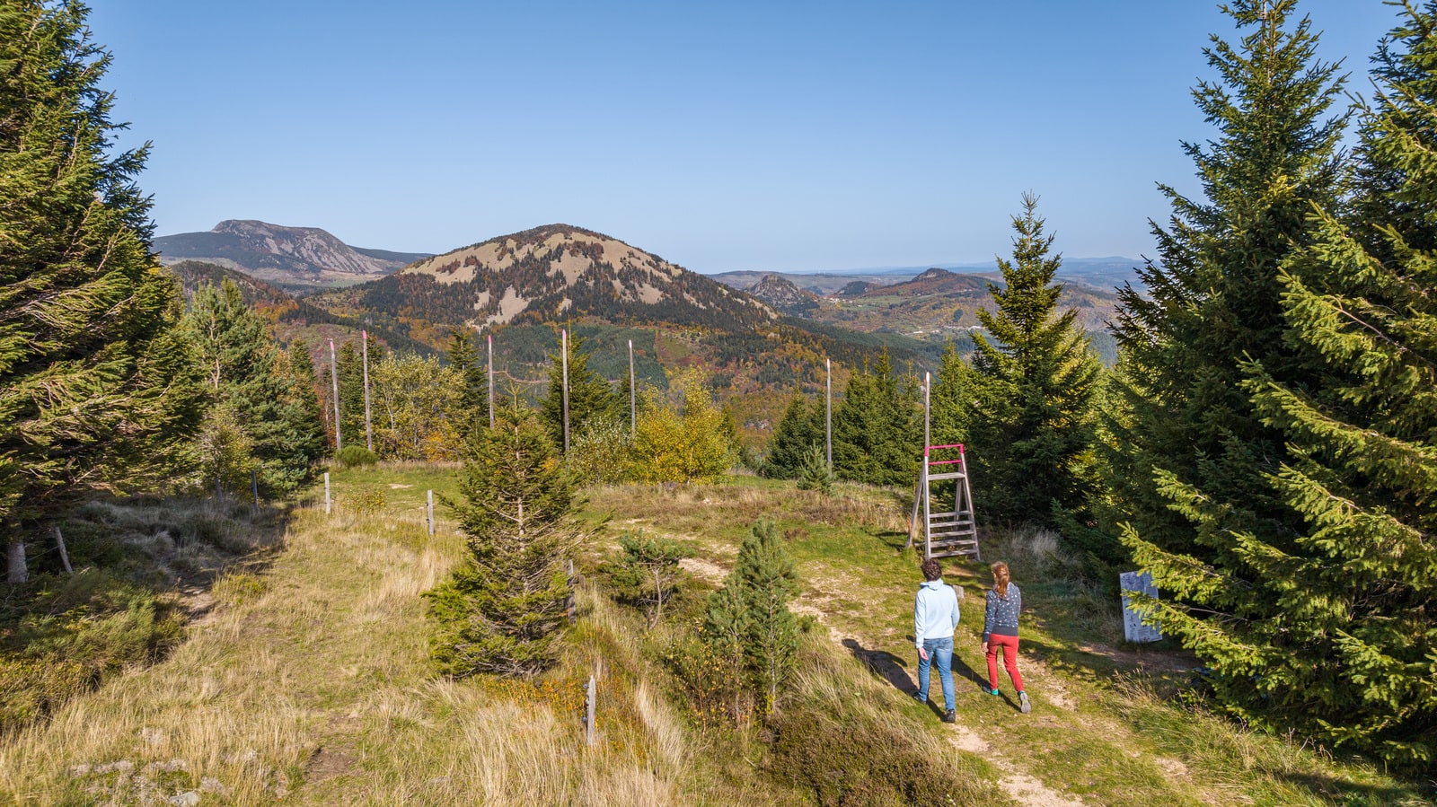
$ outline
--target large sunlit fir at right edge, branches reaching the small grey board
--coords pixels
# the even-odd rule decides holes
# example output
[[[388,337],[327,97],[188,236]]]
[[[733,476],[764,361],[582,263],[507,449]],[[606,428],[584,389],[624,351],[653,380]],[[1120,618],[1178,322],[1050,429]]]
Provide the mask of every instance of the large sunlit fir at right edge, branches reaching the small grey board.
[[[1132,541],[1150,603],[1273,728],[1431,770],[1437,752],[1437,4],[1404,7],[1375,59],[1352,217],[1318,208],[1283,263],[1285,346],[1316,383],[1246,365],[1242,389],[1286,441],[1265,474],[1295,533],[1187,508],[1224,563]],[[1346,218],[1346,220],[1344,220]],[[1237,528],[1233,528],[1233,524]]]

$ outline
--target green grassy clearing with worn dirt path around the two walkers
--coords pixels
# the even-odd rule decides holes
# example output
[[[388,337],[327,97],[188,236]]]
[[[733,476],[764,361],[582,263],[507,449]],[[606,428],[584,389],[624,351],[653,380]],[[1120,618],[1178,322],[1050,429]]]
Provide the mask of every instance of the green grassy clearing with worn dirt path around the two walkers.
[[[615,524],[688,541],[717,574],[731,567],[749,524],[775,520],[790,537],[806,587],[796,610],[821,619],[836,643],[890,684],[888,708],[943,734],[935,717],[905,696],[917,679],[910,615],[918,559],[902,550],[904,503],[854,485],[839,493],[823,500],[737,478],[677,491],[614,488],[595,494],[591,507]],[[954,653],[956,740],[1003,762],[1000,781],[1038,780],[1049,788],[1045,797],[1094,804],[1430,803],[1430,785],[1405,784],[1362,761],[1335,760],[1178,702],[1175,684],[1193,659],[1171,646],[1124,645],[1117,602],[1101,582],[1076,573],[1052,536],[990,537],[984,556],[1007,560],[1023,586],[1029,613],[1020,666],[1035,712],[1016,714],[1006,673],[1006,695],[979,689],[987,678],[979,635],[989,577],[986,567],[950,564],[948,582],[967,593]]]

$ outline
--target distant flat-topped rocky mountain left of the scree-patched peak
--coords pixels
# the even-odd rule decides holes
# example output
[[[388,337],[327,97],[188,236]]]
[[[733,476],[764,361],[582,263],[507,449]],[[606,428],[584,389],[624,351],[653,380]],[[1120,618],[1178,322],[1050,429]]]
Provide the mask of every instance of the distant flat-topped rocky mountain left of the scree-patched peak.
[[[208,233],[161,235],[152,247],[164,264],[191,260],[224,266],[300,293],[362,283],[428,257],[351,247],[318,227],[247,220],[221,221]]]

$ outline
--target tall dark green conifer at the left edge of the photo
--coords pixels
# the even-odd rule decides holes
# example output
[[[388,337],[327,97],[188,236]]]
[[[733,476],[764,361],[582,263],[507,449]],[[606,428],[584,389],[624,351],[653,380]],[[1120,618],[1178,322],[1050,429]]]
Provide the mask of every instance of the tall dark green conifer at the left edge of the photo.
[[[147,149],[112,154],[109,55],[80,3],[0,4],[0,531],[86,490],[184,475],[204,388],[180,290],[149,254]]]

